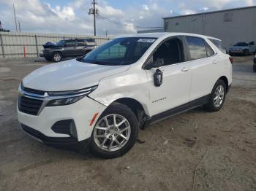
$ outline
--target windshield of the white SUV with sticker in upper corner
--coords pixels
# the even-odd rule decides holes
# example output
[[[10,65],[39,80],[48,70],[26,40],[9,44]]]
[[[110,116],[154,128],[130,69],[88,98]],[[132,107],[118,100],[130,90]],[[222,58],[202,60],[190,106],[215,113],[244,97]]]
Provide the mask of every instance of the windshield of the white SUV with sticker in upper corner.
[[[89,52],[82,61],[111,66],[132,64],[141,58],[155,40],[135,37],[113,39]]]

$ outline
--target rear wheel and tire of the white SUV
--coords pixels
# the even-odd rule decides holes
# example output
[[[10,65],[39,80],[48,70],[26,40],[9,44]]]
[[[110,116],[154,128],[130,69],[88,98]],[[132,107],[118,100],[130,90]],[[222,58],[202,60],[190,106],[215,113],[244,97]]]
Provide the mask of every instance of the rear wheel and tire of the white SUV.
[[[221,89],[221,92],[219,94],[219,97],[217,98],[217,92]],[[218,89],[218,90],[217,90]],[[211,91],[211,96],[208,104],[206,104],[206,109],[208,112],[217,112],[219,109],[222,109],[222,106],[225,102],[227,93],[227,86],[225,85],[225,82],[223,82],[221,79],[218,79],[218,81],[215,83],[214,88]],[[217,103],[219,101],[219,103]]]

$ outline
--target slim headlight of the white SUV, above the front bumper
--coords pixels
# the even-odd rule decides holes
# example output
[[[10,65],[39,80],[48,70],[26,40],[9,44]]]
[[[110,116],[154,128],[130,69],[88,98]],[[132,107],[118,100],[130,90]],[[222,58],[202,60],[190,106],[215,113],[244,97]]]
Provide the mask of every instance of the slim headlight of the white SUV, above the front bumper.
[[[88,87],[83,90],[72,90],[63,92],[48,92],[48,104],[46,106],[65,106],[69,104],[74,104],[81,98],[89,95],[92,91],[97,88],[97,85],[93,87]]]

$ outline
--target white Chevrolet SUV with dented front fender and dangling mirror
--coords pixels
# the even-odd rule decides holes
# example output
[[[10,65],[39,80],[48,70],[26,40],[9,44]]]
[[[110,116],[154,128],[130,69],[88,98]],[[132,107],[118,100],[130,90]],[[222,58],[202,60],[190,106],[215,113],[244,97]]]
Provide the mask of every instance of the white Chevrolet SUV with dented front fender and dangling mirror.
[[[197,34],[112,39],[25,77],[20,127],[48,145],[87,145],[99,157],[118,157],[135,144],[138,128],[197,106],[222,108],[232,82],[222,51],[219,39]]]

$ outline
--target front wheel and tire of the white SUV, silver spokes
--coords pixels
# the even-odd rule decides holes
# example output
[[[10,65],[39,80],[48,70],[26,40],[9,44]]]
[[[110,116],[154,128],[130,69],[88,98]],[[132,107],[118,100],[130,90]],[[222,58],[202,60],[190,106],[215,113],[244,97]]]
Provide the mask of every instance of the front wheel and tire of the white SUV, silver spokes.
[[[116,124],[118,125],[122,122],[121,125],[113,125],[114,117]],[[121,132],[122,130],[123,132]],[[102,158],[120,157],[133,147],[137,138],[138,120],[132,110],[124,104],[111,104],[100,115],[94,126],[94,130],[91,133],[90,152]]]

